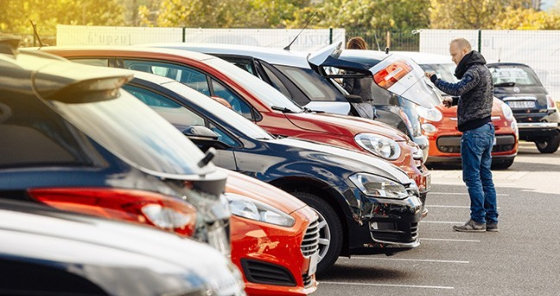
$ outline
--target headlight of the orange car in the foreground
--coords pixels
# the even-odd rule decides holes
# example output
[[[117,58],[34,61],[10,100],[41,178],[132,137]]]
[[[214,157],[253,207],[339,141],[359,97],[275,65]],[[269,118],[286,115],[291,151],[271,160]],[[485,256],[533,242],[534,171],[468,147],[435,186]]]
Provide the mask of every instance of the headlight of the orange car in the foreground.
[[[292,227],[295,223],[292,216],[243,195],[226,193],[226,197],[233,215],[284,227]]]

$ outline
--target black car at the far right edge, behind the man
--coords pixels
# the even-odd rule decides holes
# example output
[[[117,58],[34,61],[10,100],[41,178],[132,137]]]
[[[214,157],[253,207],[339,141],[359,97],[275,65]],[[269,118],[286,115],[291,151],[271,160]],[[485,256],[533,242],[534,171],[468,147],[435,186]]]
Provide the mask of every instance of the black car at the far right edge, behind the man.
[[[513,111],[519,139],[534,142],[541,153],[554,153],[560,145],[560,115],[537,74],[519,63],[488,64],[494,96]]]

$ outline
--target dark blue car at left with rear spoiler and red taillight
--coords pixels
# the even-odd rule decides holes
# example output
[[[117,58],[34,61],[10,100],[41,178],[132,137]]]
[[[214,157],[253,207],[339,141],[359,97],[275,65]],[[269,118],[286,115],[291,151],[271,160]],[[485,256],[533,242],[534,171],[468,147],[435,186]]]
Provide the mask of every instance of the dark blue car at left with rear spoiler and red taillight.
[[[0,46],[11,50],[0,54],[2,198],[149,224],[229,253],[225,175],[120,89],[130,71]]]

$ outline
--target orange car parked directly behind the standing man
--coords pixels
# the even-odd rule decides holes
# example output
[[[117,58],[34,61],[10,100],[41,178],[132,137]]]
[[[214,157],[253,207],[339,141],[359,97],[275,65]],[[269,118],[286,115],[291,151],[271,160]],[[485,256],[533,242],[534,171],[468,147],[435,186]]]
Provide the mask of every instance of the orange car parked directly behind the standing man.
[[[430,141],[427,162],[460,162],[462,133],[457,129],[457,106],[447,108],[441,104],[432,109],[420,107],[418,113],[424,135]],[[492,123],[496,130],[492,167],[507,169],[517,155],[519,132],[509,106],[496,98],[492,106]]]

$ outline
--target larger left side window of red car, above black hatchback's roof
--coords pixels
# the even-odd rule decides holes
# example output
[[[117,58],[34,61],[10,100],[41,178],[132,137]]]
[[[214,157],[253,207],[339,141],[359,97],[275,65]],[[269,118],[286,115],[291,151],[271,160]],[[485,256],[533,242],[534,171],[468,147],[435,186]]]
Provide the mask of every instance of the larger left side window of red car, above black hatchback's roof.
[[[186,84],[190,88],[209,96],[210,88],[206,74],[190,67],[176,65],[172,63],[145,61],[145,60],[124,60],[126,69],[152,73]]]

